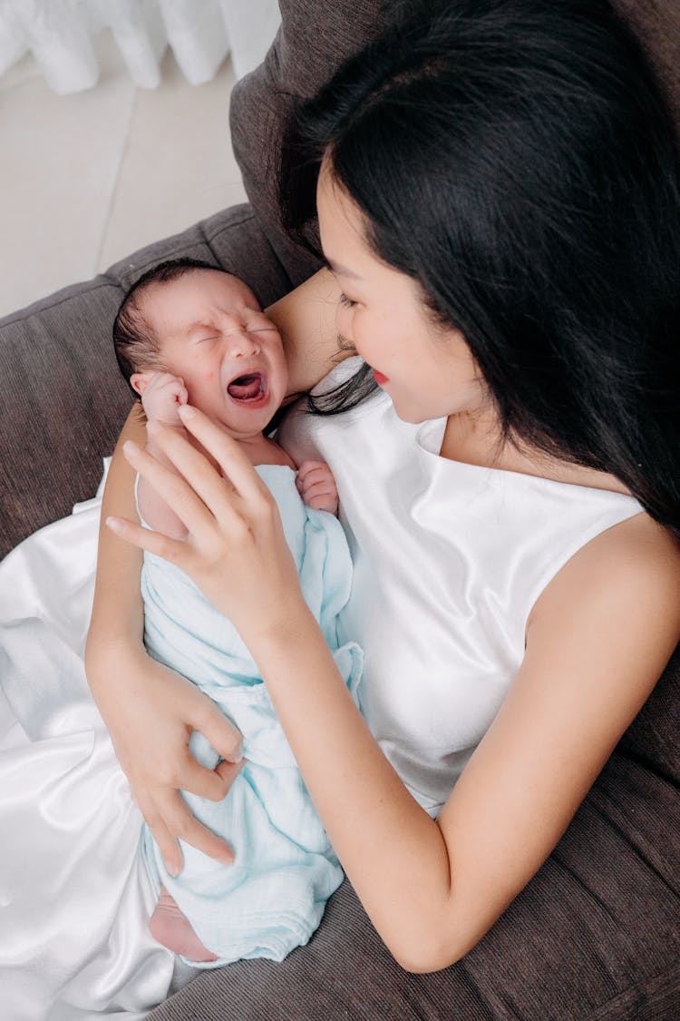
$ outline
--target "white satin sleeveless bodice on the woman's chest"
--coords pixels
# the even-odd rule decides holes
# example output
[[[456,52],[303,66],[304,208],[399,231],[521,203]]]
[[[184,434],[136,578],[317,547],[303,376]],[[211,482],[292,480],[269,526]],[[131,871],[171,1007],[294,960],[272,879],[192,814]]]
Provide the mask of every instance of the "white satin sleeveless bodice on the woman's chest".
[[[348,359],[321,390],[356,368]],[[401,422],[379,393],[339,419],[292,416],[279,437],[335,476],[355,570],[341,626],[364,649],[361,708],[432,816],[508,692],[537,596],[589,539],[641,509],[620,493],[439,457],[444,425]]]

